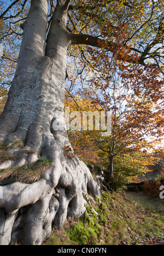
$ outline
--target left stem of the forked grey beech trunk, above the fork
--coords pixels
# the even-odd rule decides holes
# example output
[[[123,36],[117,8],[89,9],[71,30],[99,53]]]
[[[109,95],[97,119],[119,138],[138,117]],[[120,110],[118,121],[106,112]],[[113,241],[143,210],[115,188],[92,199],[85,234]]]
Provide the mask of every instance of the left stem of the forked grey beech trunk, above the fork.
[[[32,0],[24,26],[17,70],[36,65],[37,60],[45,55],[47,16],[48,1]],[[33,58],[35,61],[31,61]]]

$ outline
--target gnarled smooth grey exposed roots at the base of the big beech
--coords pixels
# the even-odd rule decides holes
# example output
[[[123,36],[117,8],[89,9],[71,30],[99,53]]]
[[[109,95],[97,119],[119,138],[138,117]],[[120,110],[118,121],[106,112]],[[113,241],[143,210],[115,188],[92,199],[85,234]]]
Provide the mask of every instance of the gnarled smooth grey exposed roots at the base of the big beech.
[[[27,154],[29,150],[27,146],[19,150],[8,148],[8,153],[18,157],[10,161],[11,170],[14,166],[28,167],[36,163],[39,156],[34,152]],[[77,156],[74,159],[64,156],[55,140],[42,151],[52,162],[38,181],[31,184],[14,182],[0,187],[3,191],[0,199],[1,245],[11,242],[40,245],[50,235],[52,224],[60,229],[67,216],[76,218],[84,214],[87,193],[99,196],[98,185]]]

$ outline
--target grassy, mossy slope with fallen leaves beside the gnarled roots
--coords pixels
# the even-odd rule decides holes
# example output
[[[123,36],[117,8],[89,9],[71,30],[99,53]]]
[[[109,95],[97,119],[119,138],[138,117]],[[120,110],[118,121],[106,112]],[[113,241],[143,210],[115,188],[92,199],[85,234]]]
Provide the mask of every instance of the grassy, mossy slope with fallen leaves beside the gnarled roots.
[[[102,192],[83,218],[67,220],[43,245],[164,245],[164,199]]]

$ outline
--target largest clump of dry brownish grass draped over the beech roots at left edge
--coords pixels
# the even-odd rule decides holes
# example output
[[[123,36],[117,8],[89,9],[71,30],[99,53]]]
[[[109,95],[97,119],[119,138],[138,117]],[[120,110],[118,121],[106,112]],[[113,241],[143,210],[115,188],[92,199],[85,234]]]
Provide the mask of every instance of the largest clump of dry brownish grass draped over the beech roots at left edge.
[[[38,181],[50,165],[51,162],[48,159],[39,159],[36,165],[30,168],[14,167],[0,170],[0,182],[4,179],[14,179],[16,182],[31,184]]]

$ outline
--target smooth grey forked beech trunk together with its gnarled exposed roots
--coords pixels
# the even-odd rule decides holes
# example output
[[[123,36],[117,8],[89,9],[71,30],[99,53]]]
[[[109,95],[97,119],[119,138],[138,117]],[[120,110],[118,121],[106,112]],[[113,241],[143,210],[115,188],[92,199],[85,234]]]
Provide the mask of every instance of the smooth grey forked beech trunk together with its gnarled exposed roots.
[[[0,170],[32,166],[40,157],[50,159],[51,166],[37,182],[0,187],[0,245],[12,241],[40,245],[50,235],[52,224],[60,229],[68,216],[84,214],[87,193],[99,197],[89,169],[65,152],[70,146],[66,129],[54,131],[52,125],[65,117],[69,2],[57,1],[47,38],[48,0],[32,0],[22,26],[19,61],[0,117],[0,143],[9,145],[20,139],[25,147],[10,147],[7,153],[19,158],[5,161]]]

